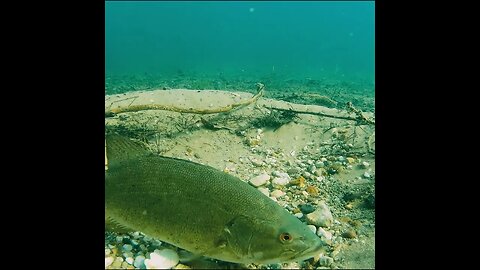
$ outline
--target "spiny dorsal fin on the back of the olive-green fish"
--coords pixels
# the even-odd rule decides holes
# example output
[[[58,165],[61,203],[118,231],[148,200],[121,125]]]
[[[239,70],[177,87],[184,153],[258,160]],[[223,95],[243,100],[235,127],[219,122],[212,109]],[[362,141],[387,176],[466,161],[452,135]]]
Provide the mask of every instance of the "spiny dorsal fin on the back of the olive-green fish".
[[[139,142],[118,134],[105,136],[108,162],[129,160],[150,154],[147,148]]]

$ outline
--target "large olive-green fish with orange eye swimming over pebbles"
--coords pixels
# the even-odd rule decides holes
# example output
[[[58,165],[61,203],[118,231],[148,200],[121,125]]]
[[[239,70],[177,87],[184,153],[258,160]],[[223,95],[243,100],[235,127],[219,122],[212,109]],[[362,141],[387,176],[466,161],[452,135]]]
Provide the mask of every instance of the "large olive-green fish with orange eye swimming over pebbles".
[[[235,263],[306,260],[323,242],[242,180],[161,157],[118,135],[106,138],[106,220],[194,254]]]

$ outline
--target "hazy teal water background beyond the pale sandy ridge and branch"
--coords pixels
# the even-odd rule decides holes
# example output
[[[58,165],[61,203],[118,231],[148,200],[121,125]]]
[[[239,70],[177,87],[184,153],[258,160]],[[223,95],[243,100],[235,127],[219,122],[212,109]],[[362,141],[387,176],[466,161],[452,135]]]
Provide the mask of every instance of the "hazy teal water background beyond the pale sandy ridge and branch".
[[[373,111],[374,15],[373,1],[107,1],[105,91],[262,82],[267,97],[319,92]]]

